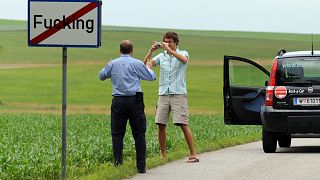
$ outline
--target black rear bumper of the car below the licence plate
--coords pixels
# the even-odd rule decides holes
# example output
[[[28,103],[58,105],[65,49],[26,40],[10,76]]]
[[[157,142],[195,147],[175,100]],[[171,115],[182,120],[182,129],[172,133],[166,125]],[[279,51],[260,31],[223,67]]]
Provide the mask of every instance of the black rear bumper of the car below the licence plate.
[[[262,106],[261,121],[269,132],[320,133],[320,110],[279,110]]]

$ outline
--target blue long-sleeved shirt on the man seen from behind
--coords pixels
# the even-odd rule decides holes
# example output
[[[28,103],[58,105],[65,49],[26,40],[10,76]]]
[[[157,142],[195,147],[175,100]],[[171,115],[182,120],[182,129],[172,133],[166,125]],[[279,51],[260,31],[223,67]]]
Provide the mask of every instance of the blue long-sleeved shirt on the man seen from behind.
[[[109,62],[99,72],[98,77],[101,81],[111,78],[112,96],[134,96],[136,92],[142,92],[140,79],[156,80],[156,75],[151,69],[129,54],[122,54]]]

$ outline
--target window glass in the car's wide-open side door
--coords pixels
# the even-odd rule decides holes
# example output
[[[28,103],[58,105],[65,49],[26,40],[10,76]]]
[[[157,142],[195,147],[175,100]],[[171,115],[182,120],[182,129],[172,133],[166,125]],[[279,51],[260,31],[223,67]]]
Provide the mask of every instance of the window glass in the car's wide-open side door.
[[[229,78],[231,86],[265,86],[269,76],[252,64],[233,60],[229,62]]]

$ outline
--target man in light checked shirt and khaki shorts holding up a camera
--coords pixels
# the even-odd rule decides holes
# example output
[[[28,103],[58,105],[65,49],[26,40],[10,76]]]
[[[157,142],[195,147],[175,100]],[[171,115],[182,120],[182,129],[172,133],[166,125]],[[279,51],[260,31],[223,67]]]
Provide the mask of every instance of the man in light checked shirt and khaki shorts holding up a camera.
[[[144,58],[149,66],[160,66],[159,99],[156,110],[156,124],[158,125],[158,139],[161,156],[166,157],[166,124],[172,112],[173,122],[180,126],[189,147],[189,160],[199,162],[194,149],[192,132],[189,127],[189,110],[186,88],[186,70],[189,53],[178,48],[179,37],[176,32],[163,35],[163,42],[154,42]],[[153,52],[164,49],[163,52],[151,58]]]

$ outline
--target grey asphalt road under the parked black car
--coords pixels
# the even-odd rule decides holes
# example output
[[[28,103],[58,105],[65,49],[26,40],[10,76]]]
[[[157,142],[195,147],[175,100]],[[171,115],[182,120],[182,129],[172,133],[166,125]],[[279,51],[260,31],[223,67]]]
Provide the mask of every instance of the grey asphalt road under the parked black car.
[[[199,154],[199,163],[186,159],[148,169],[132,179],[320,179],[320,138],[293,138],[291,148],[265,154],[262,142]]]

